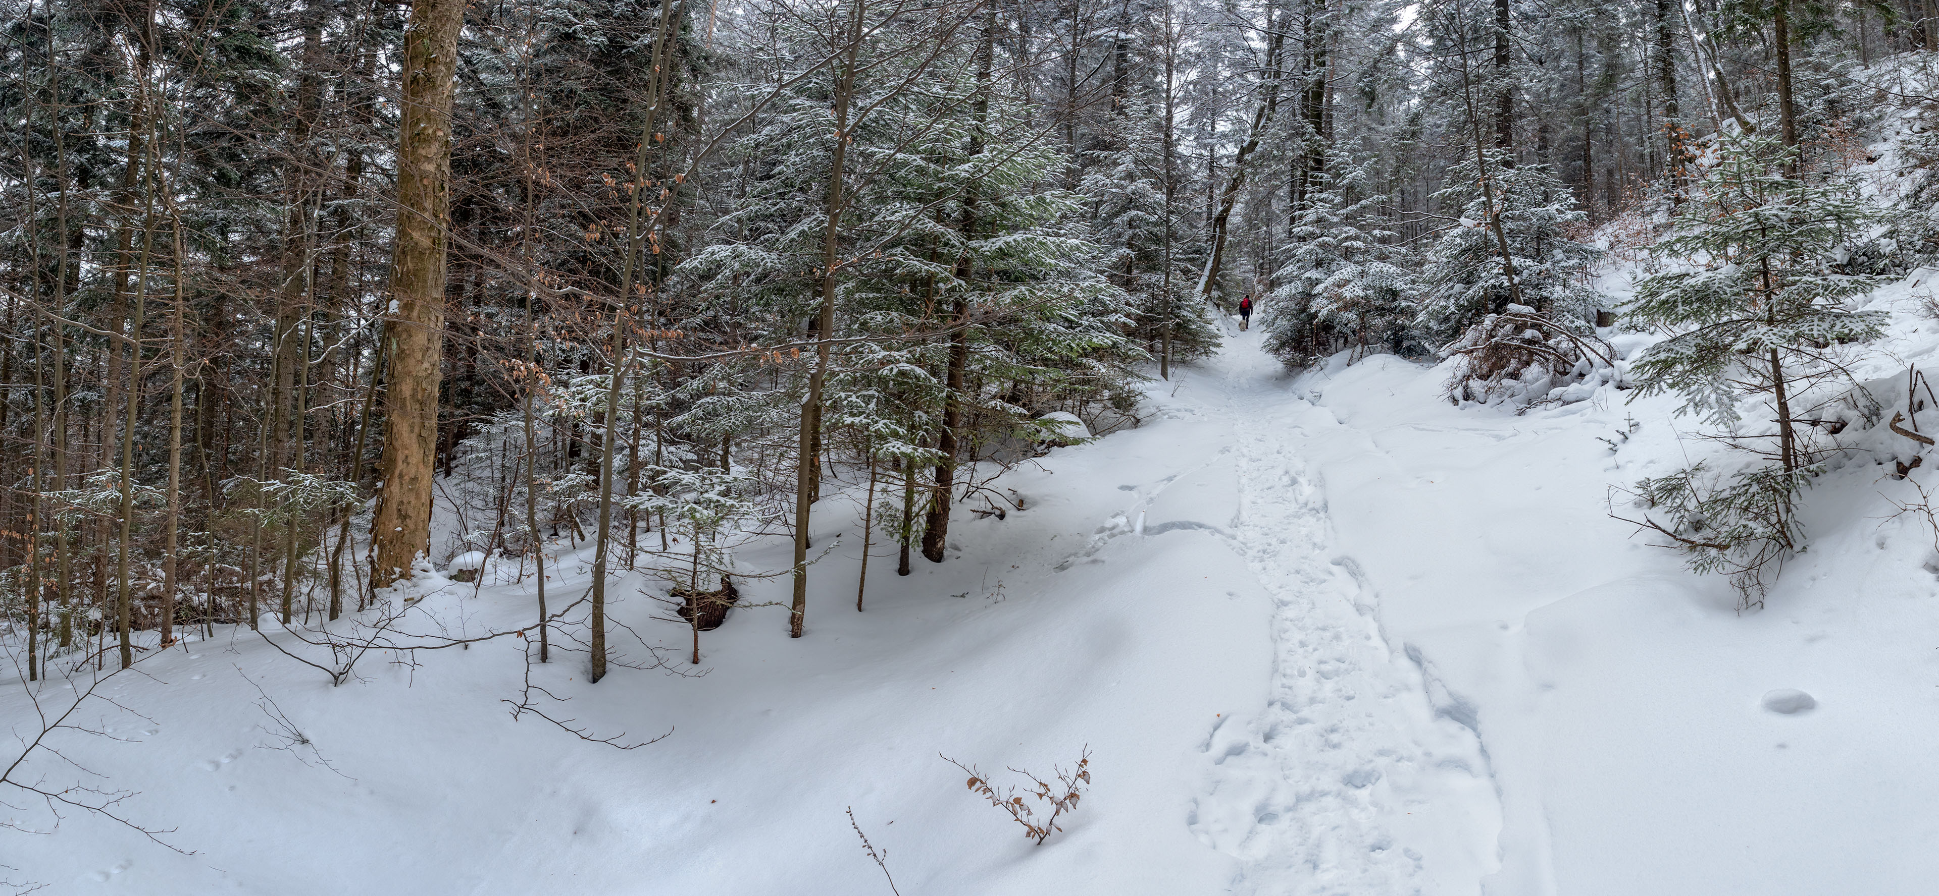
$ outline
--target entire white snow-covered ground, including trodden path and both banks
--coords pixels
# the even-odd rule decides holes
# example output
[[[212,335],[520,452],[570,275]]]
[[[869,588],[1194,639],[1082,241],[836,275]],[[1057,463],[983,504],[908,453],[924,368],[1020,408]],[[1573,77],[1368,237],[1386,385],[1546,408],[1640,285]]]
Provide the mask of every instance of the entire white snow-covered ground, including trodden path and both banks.
[[[1881,296],[1910,302],[1910,286]],[[1935,350],[1918,327],[1902,315],[1892,364]],[[582,654],[535,668],[576,728],[671,732],[632,751],[514,722],[518,639],[366,656],[332,687],[219,631],[107,683],[124,710],[83,716],[120,739],[56,735],[103,778],[33,762],[54,786],[138,791],[118,811],[192,855],[66,813],[45,836],[0,832],[4,877],[50,892],[886,894],[853,807],[904,896],[1929,890],[1939,553],[1922,523],[1883,519],[1908,486],[1871,464],[1832,474],[1813,490],[1813,548],[1739,615],[1724,581],[1607,517],[1611,484],[1681,464],[1673,401],[1605,387],[1512,416],[1450,406],[1441,379],[1390,356],[1295,377],[1235,333],[1152,385],[1146,426],[1006,476],[1024,511],[964,509],[948,563],[902,579],[878,544],[861,613],[861,528],[830,497],[809,637],[785,637],[783,610],[745,608],[702,637],[698,677],[586,685]],[[741,563],[785,567],[785,548]],[[555,606],[586,565],[568,553]],[[642,588],[615,586],[615,617],[686,670],[684,627],[655,621]],[[743,592],[781,600],[785,581]],[[529,582],[450,584],[411,625],[529,617]],[[1782,689],[1815,706],[1766,708]],[[0,718],[37,730],[19,689]],[[1045,846],[942,759],[1001,784],[1004,766],[1047,774],[1086,745],[1096,784]],[[10,801],[0,817],[48,828]]]

